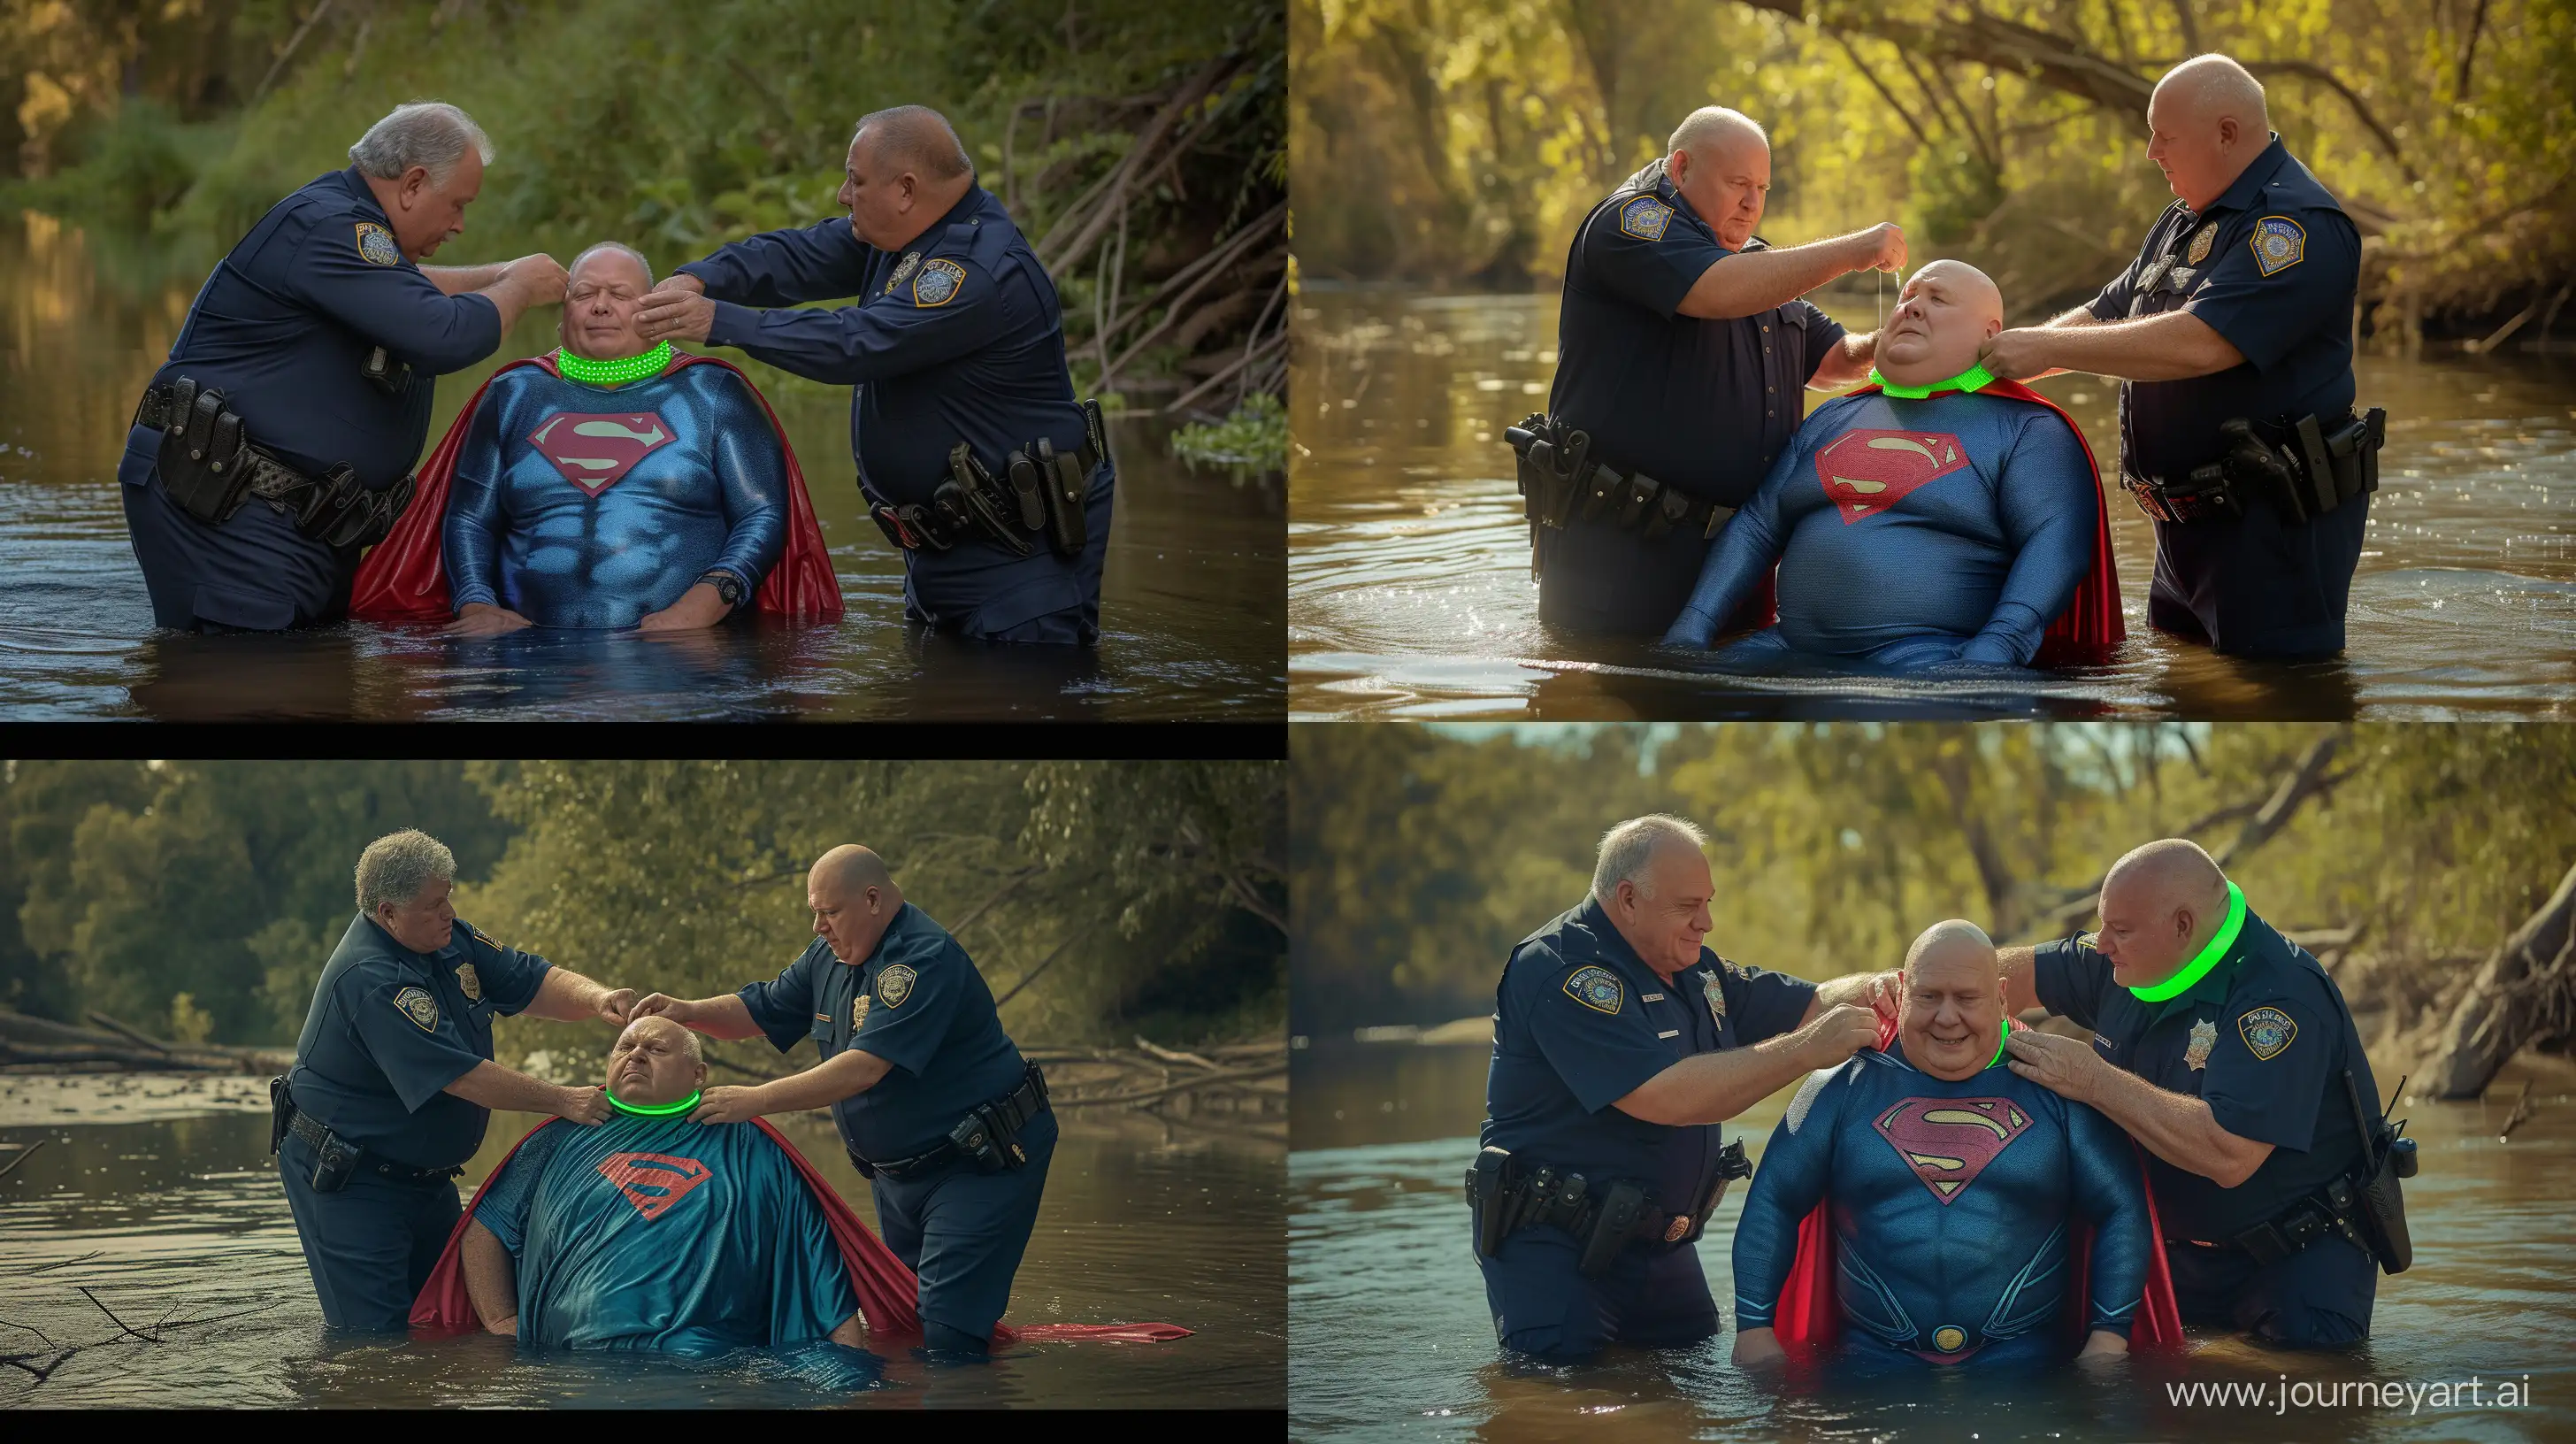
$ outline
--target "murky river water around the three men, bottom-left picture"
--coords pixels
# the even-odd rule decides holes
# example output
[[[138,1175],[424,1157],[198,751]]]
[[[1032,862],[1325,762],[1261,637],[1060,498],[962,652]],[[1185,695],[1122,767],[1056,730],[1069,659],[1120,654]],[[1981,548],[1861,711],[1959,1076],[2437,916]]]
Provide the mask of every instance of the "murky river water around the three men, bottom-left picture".
[[[868,1186],[827,1117],[773,1119],[868,1225]],[[471,1189],[536,1119],[497,1114]],[[1283,1150],[1136,1114],[1064,1117],[1010,1323],[1177,1323],[1172,1343],[1025,1343],[989,1364],[914,1351],[829,1369],[783,1359],[688,1367],[657,1356],[520,1354],[466,1336],[327,1336],[255,1078],[0,1078],[0,1142],[36,1142],[0,1178],[0,1356],[85,1346],[44,1382],[0,1367],[0,1408],[124,1405],[1056,1405],[1280,1408]],[[15,1153],[0,1150],[0,1163]],[[157,1343],[118,1338],[100,1305]],[[258,1312],[247,1312],[258,1310]],[[222,1318],[240,1315],[240,1318]],[[206,1323],[198,1323],[206,1320]],[[116,1341],[111,1341],[116,1338]],[[832,1377],[829,1385],[817,1374]]]

